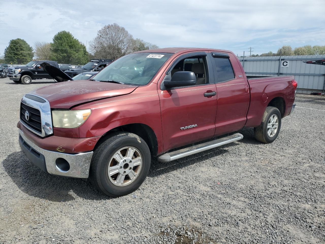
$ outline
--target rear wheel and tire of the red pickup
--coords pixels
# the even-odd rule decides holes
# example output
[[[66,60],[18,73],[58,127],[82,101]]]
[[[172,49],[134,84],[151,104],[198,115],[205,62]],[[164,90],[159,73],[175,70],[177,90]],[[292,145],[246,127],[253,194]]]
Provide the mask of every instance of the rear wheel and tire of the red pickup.
[[[254,128],[254,135],[257,141],[271,143],[277,139],[280,128],[281,113],[279,109],[276,107],[266,107],[261,125]]]

